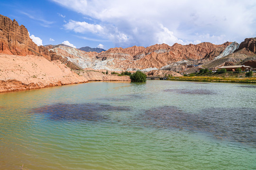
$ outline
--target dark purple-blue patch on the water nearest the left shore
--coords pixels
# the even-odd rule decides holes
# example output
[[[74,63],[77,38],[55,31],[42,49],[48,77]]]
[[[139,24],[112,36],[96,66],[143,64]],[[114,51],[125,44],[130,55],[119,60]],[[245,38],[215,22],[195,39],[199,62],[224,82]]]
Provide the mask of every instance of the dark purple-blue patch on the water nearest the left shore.
[[[102,103],[80,103],[67,104],[56,103],[33,109],[32,112],[47,114],[54,120],[93,120],[99,121],[108,119],[108,116],[101,114],[103,111],[128,111],[129,107],[111,106]]]

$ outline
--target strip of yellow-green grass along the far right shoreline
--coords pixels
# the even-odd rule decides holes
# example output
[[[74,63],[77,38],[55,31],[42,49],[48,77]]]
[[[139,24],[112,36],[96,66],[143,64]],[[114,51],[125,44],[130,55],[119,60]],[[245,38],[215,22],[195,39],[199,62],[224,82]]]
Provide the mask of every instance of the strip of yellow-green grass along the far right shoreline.
[[[232,83],[256,83],[256,77],[219,77],[219,76],[180,76],[169,77],[169,80],[201,81],[201,82],[232,82]]]

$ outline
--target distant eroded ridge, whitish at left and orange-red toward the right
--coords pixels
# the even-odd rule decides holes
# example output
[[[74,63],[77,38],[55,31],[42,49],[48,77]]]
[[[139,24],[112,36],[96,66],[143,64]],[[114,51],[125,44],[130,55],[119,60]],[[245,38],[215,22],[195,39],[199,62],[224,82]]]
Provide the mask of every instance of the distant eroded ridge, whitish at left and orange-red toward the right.
[[[48,49],[49,51],[56,52],[56,54],[63,58],[67,58],[67,60],[73,63],[77,63],[82,68],[107,69],[113,71],[143,69],[145,71],[151,71],[161,69],[174,62],[189,59],[195,60],[195,64],[199,64],[198,60],[206,58],[212,51],[215,51],[215,57],[219,56],[230,44],[231,42],[225,42],[220,45],[215,45],[210,42],[202,42],[197,45],[181,45],[175,43],[173,46],[155,44],[146,48],[137,46],[129,48],[110,48],[101,53],[85,52],[68,46],[48,46]],[[221,50],[216,51],[216,49]],[[183,66],[179,71],[182,71],[184,68],[186,68],[186,62],[183,62]]]

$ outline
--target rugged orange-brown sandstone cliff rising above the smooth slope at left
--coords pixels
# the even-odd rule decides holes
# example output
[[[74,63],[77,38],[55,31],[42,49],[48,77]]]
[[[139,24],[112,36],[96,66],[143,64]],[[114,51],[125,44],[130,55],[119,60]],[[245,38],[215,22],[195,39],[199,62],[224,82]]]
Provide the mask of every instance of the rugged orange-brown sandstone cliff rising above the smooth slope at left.
[[[15,19],[12,21],[9,17],[2,15],[0,15],[0,53],[20,56],[44,56],[49,61],[61,60],[73,69],[81,69],[71,61],[63,59],[63,57],[57,55],[54,51],[48,51],[44,46],[38,47],[29,37],[25,26],[19,26]]]

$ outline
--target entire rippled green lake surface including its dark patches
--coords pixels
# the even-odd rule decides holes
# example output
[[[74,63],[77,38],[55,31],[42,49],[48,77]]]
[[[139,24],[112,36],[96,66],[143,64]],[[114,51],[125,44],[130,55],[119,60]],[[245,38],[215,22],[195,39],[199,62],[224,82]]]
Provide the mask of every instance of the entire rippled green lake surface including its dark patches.
[[[0,93],[0,170],[255,170],[255,94],[164,80]]]

